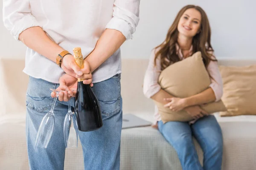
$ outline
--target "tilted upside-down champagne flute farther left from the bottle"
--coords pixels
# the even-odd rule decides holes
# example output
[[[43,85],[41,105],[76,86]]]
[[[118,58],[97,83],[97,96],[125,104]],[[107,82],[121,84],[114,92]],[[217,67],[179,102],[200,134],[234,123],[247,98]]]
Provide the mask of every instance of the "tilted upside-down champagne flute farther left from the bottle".
[[[42,147],[47,148],[47,145],[49,144],[49,141],[52,137],[54,122],[55,122],[55,116],[53,113],[53,109],[57,100],[56,96],[53,100],[52,108],[51,110],[44,115],[41,124],[38,129],[38,133],[35,140],[35,146],[36,147]]]

